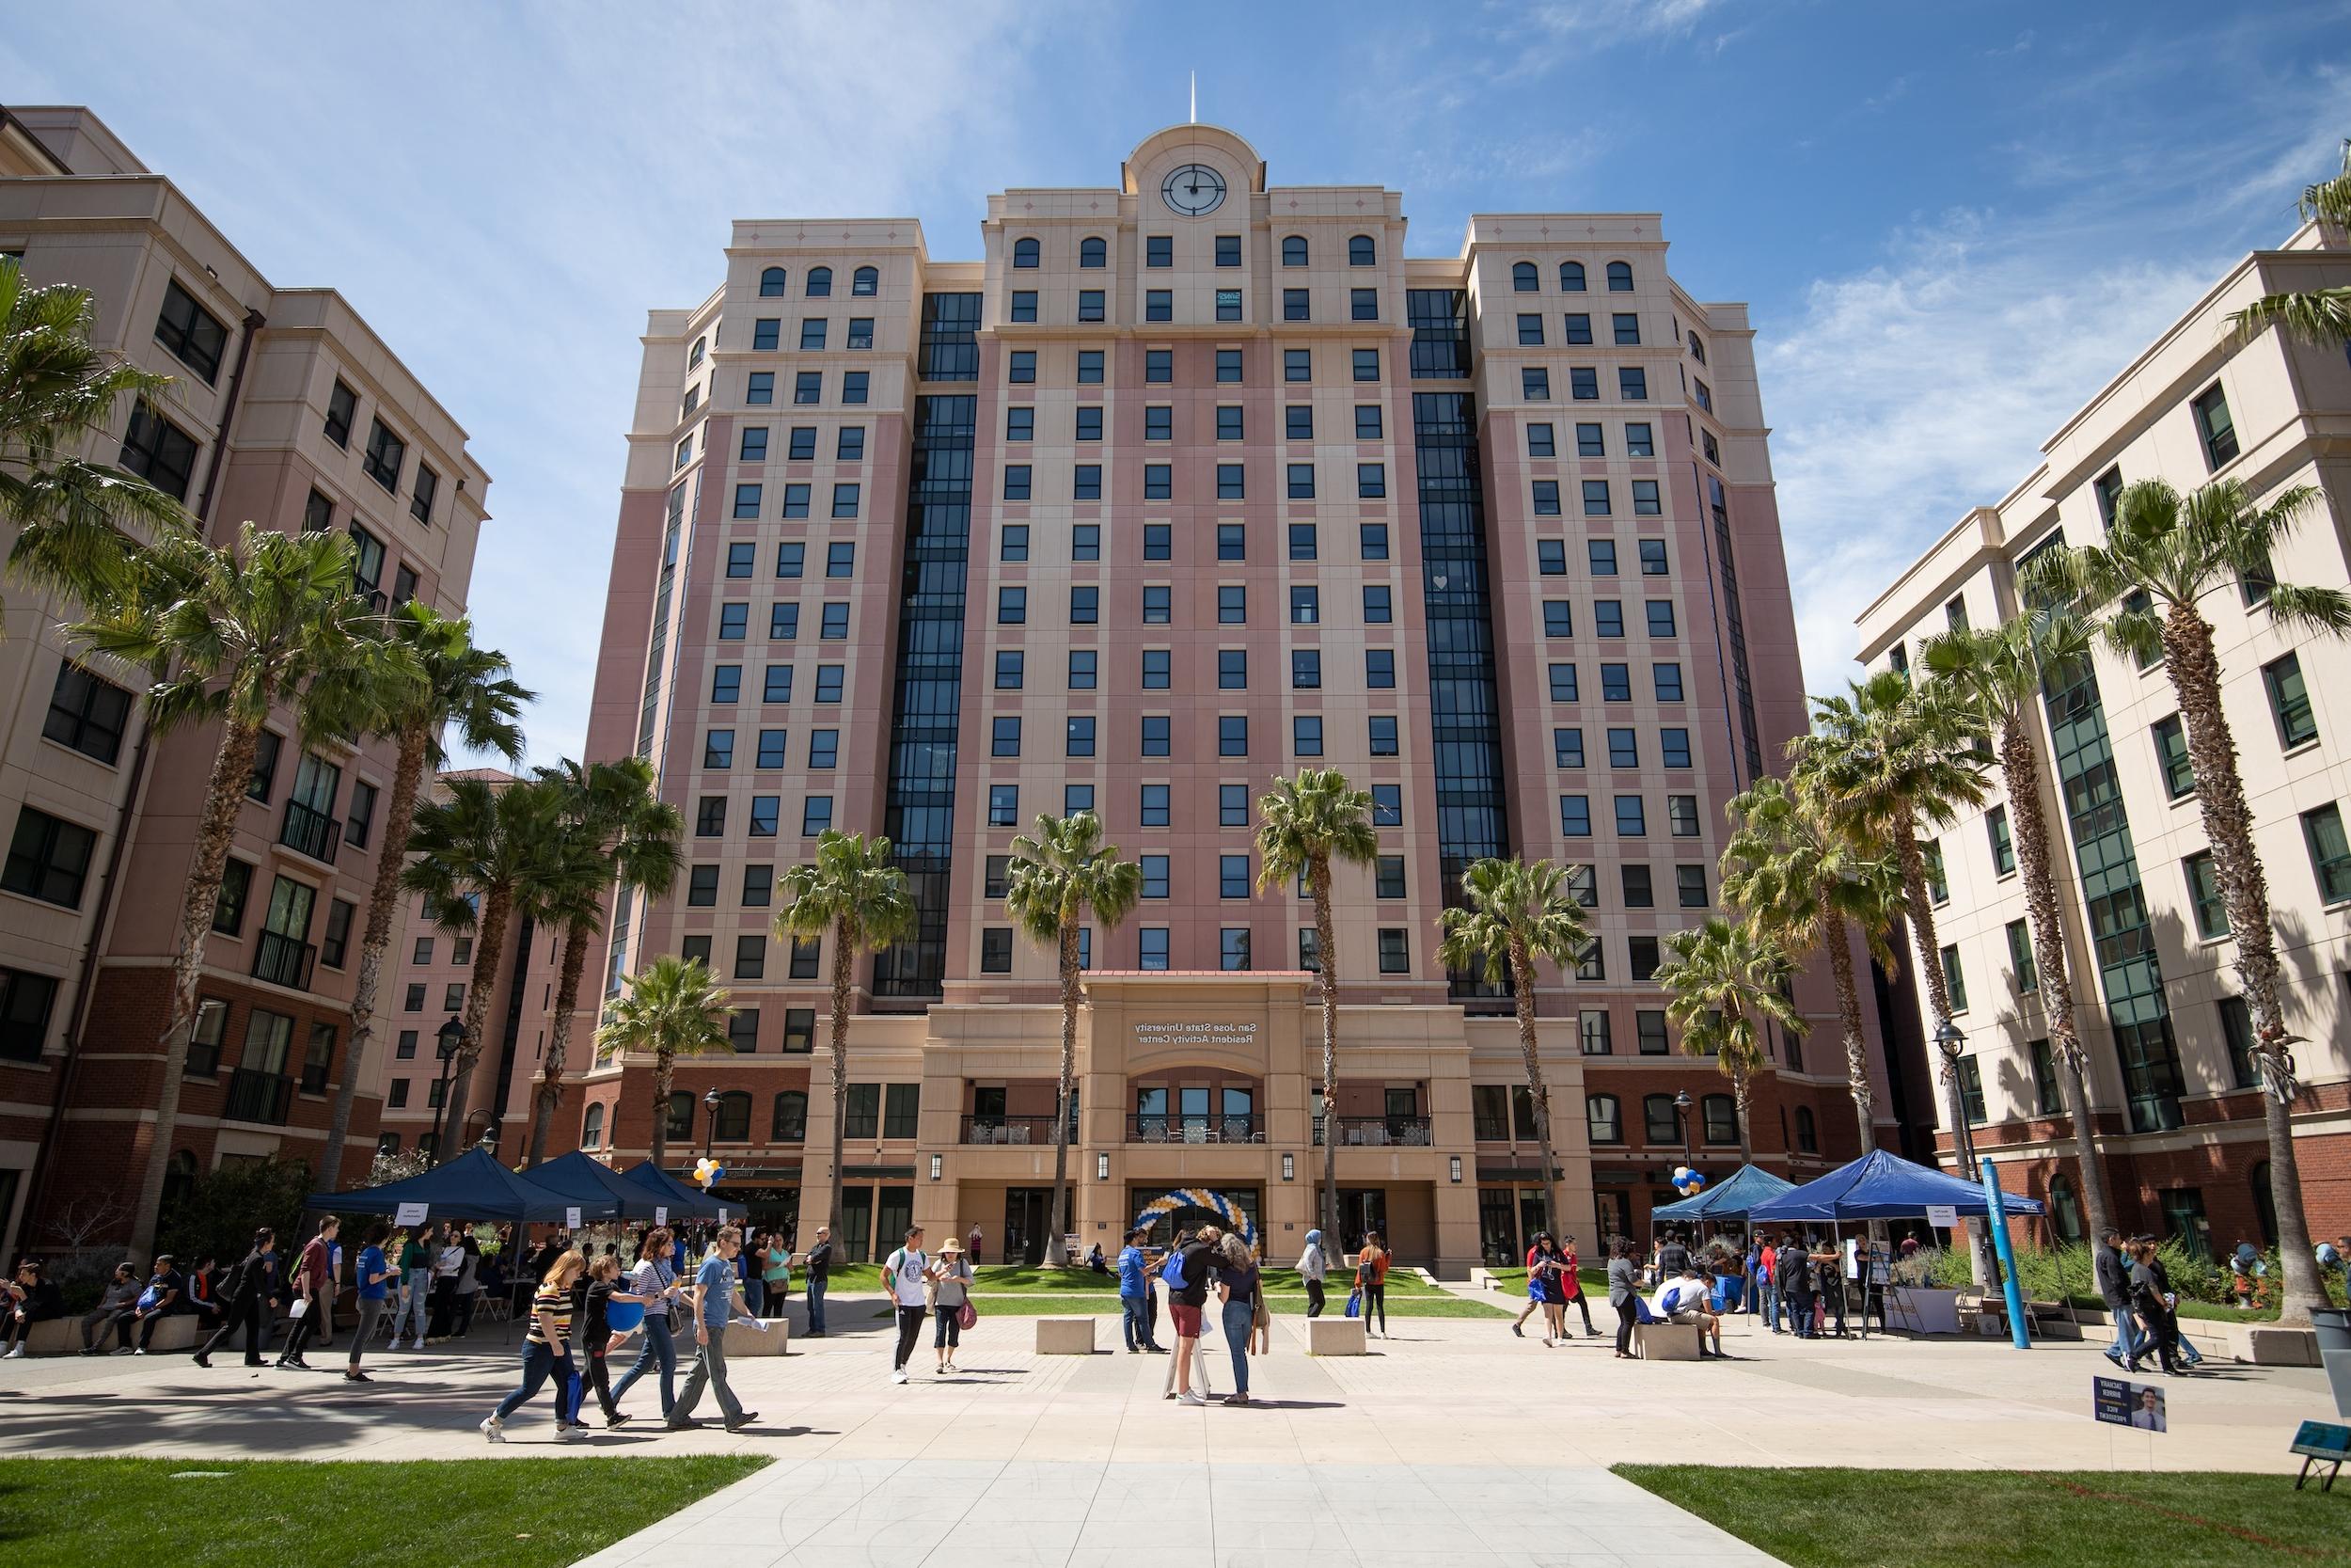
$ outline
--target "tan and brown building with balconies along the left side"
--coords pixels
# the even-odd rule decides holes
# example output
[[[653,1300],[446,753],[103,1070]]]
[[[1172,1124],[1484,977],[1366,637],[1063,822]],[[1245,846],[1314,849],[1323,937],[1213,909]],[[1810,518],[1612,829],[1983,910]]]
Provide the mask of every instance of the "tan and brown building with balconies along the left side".
[[[92,292],[92,341],[172,383],[87,456],[209,538],[348,531],[360,588],[458,614],[489,477],[465,433],[334,289],[270,284],[87,108],[0,110],[0,252]],[[73,607],[7,583],[0,696],[0,1248],[120,1232],[150,1152],[172,954],[219,726],[155,738],[132,672],[78,661]],[[174,1185],[317,1161],[350,1070],[350,987],[393,752],[277,710],[237,823],[179,1095]],[[381,1048],[381,1046],[379,1046]],[[360,1178],[374,1098],[353,1121]],[[31,1208],[28,1208],[31,1206]]]

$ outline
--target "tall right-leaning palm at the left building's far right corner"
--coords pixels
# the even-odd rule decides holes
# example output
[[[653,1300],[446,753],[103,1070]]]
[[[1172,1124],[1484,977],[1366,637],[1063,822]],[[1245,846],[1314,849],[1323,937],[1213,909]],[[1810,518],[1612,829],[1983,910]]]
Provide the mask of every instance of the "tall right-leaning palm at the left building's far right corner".
[[[327,1152],[320,1168],[327,1187],[341,1185],[343,1145],[350,1138],[350,1107],[367,1077],[367,1048],[376,1030],[376,992],[383,985],[383,954],[393,945],[400,917],[400,875],[409,863],[409,825],[416,818],[416,792],[426,769],[449,762],[442,741],[449,729],[465,750],[496,752],[508,762],[522,757],[522,705],[531,693],[508,679],[505,654],[473,644],[473,621],[444,616],[430,604],[409,599],[383,618],[393,642],[407,649],[416,665],[411,682],[381,682],[371,693],[379,712],[367,729],[390,738],[400,750],[393,762],[393,785],[386,797],[383,839],[376,849],[376,882],[367,891],[367,929],[360,938],[360,966],[350,985],[350,1056],[343,1079],[334,1086],[327,1117]],[[560,1027],[560,1025],[557,1025]]]

